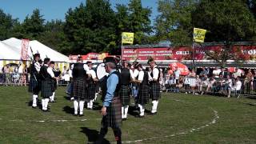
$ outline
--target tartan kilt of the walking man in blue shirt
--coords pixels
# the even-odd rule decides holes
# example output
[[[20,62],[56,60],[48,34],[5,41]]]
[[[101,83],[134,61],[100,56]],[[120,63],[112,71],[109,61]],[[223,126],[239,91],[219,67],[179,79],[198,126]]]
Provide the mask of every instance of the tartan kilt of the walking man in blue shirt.
[[[106,107],[106,115],[102,118],[102,125],[112,128],[122,125],[122,105],[120,98],[114,97],[110,106]]]

